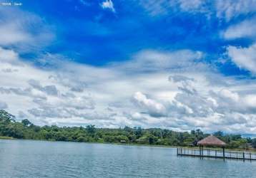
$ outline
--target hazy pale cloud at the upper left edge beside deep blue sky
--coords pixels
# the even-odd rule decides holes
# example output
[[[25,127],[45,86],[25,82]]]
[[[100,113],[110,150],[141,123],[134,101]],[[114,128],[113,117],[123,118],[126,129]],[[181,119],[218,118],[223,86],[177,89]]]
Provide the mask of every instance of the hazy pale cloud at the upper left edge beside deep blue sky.
[[[54,39],[51,27],[35,14],[15,8],[0,9],[0,45],[36,51]]]

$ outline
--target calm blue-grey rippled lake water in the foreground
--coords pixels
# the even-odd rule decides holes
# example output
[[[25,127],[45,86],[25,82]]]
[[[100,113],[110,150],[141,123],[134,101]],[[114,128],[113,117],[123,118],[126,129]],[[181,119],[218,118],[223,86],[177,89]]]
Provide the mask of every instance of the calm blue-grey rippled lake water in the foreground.
[[[256,162],[177,157],[175,148],[0,140],[0,177],[256,177]]]

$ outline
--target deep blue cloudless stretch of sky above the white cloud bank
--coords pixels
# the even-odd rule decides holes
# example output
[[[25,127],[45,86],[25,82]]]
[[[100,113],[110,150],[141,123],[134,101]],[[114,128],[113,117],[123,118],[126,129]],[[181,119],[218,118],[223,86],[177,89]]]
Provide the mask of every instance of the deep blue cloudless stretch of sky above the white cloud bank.
[[[61,53],[79,63],[95,66],[129,60],[144,48],[164,51],[189,48],[207,53],[207,61],[215,61],[228,45],[252,44],[250,38],[222,38],[221,32],[250,19],[254,13],[226,21],[213,14],[216,13],[213,3],[208,7],[212,10],[210,15],[180,11],[178,1],[172,9],[166,7],[168,12],[151,15],[137,1],[114,1],[114,12],[102,9],[102,2],[24,1],[21,9],[40,16],[56,35],[54,42],[41,51]],[[230,70],[230,66],[227,68]]]

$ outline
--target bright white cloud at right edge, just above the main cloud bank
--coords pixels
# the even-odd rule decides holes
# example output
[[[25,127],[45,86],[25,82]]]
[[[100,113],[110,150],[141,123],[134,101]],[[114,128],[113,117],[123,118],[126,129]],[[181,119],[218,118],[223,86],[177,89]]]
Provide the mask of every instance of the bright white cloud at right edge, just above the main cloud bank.
[[[248,48],[228,46],[227,53],[238,67],[256,73],[256,43]]]

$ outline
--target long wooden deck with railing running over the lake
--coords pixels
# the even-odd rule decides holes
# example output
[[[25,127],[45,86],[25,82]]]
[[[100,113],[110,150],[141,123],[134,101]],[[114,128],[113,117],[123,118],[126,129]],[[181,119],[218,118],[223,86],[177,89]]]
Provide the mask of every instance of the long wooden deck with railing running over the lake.
[[[240,159],[240,160],[255,160],[256,161],[256,152],[241,152],[241,151],[228,151],[225,150],[225,156],[223,157],[222,150],[212,150],[204,148],[200,155],[200,149],[197,148],[177,148],[178,156],[190,156],[190,157],[209,157],[209,158],[221,158],[221,159]]]

